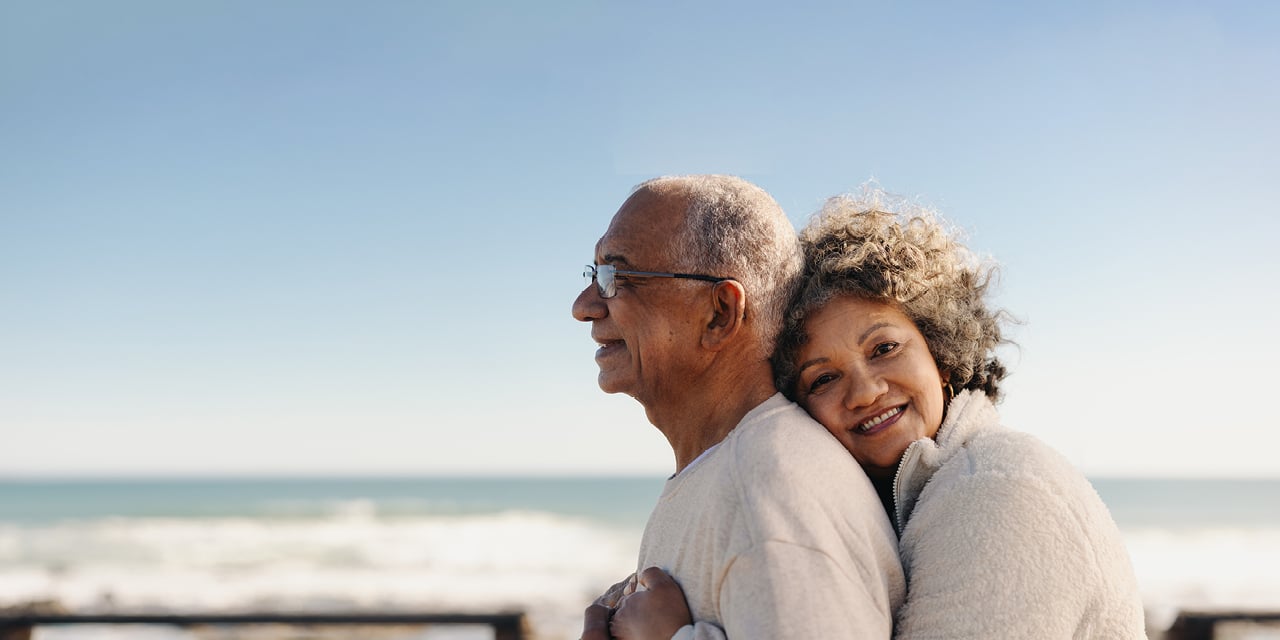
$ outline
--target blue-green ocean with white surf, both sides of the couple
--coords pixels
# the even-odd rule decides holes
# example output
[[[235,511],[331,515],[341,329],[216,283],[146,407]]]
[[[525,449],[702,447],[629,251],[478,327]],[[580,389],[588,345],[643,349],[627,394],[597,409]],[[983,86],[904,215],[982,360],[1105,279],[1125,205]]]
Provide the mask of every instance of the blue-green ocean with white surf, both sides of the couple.
[[[662,477],[0,480],[0,608],[524,609],[538,637],[572,639],[582,608],[635,570],[662,485]],[[1180,608],[1280,609],[1280,480],[1093,485],[1124,532],[1156,627]],[[68,626],[37,630],[37,639],[118,634]]]

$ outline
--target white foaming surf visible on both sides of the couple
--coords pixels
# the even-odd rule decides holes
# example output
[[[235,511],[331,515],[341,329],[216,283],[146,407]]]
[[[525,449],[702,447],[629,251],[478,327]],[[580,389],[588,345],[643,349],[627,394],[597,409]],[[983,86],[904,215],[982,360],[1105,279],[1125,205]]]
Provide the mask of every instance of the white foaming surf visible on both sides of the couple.
[[[1280,527],[1123,530],[1156,627],[1179,609],[1280,609]],[[641,526],[534,509],[102,517],[0,524],[0,607],[78,612],[522,609],[576,637],[582,607],[635,566]]]

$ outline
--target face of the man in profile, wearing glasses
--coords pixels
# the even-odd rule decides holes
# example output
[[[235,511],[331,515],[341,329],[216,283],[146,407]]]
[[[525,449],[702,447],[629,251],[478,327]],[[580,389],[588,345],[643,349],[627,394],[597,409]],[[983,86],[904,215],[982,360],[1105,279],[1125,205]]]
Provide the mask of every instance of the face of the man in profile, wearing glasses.
[[[595,264],[636,271],[672,271],[669,243],[685,215],[678,195],[641,189],[634,193],[595,244]],[[573,301],[573,317],[591,323],[600,346],[600,389],[626,393],[646,407],[678,392],[698,355],[699,320],[710,312],[699,296],[707,284],[671,278],[617,278],[617,296],[602,298],[594,283]]]

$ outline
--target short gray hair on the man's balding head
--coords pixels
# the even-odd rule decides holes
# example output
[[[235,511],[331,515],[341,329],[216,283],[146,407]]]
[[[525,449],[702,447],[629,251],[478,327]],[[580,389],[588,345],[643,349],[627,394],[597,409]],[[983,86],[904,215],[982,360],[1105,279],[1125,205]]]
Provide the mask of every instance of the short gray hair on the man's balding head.
[[[681,270],[741,283],[762,357],[773,353],[804,270],[804,251],[782,207],[760,187],[732,175],[668,175],[636,191],[645,188],[673,188],[689,198],[685,224],[672,238],[672,259]]]

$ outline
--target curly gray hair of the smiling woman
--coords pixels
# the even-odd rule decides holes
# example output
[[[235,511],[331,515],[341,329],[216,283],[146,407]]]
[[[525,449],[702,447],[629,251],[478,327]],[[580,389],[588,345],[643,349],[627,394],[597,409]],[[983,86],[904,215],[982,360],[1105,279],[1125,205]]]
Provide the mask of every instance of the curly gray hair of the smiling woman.
[[[987,306],[996,269],[960,243],[932,210],[878,188],[827,201],[800,232],[801,289],[791,301],[773,355],[778,389],[795,399],[805,320],[838,296],[893,305],[906,315],[955,390],[1000,399],[1005,366],[996,358],[1005,314]]]

